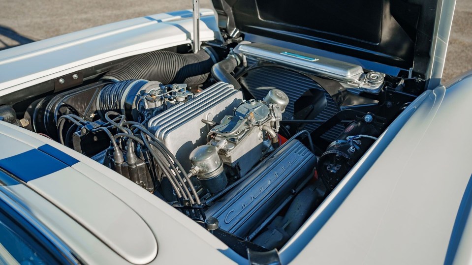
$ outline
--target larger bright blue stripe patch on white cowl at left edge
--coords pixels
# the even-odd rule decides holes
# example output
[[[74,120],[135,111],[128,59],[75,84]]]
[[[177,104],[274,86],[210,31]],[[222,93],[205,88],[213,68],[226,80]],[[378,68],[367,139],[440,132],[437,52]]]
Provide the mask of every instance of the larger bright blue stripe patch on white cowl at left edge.
[[[66,168],[67,164],[38,149],[31,149],[21,154],[0,159],[0,167],[28,182],[60,171]]]

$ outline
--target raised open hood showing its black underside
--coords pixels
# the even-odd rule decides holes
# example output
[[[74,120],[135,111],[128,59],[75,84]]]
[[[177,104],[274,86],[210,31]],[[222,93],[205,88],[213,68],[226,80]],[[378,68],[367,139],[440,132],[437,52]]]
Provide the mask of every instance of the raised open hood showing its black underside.
[[[441,0],[212,0],[221,28],[359,59],[428,79]],[[452,20],[454,2],[448,5]],[[437,31],[437,30],[436,30]],[[449,29],[446,29],[446,40]],[[442,32],[444,33],[444,32]],[[447,43],[447,41],[446,41]],[[445,51],[444,51],[445,53]],[[442,67],[441,67],[442,72]]]

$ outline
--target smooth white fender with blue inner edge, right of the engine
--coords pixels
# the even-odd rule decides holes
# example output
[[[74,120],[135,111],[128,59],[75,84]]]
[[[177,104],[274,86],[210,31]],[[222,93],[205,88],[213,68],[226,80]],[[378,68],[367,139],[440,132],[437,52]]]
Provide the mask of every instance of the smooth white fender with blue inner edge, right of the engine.
[[[471,88],[469,74],[419,96],[284,246],[283,263],[443,264],[472,174]]]

